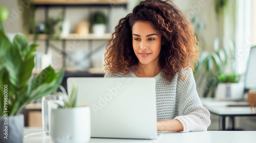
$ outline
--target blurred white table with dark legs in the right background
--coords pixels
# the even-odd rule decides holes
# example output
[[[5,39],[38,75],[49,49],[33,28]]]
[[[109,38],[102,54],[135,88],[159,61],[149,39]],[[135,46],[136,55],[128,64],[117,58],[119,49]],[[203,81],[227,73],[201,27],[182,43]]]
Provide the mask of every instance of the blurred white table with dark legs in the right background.
[[[230,117],[230,122],[232,124],[230,130],[234,129],[234,117],[235,116],[256,116],[255,112],[252,112],[249,106],[239,106],[246,105],[246,102],[233,102],[233,101],[215,101],[211,98],[201,98],[201,102],[205,108],[207,108],[210,113],[214,113],[222,117],[222,128],[220,130],[226,130],[226,117]],[[228,105],[237,105],[237,107],[229,107]],[[219,123],[220,124],[220,123]]]

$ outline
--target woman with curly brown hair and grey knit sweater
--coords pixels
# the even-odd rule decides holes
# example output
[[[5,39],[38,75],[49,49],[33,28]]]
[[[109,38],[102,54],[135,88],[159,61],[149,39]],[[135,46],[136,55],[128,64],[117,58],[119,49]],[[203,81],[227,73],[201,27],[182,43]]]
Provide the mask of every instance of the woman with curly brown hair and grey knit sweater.
[[[198,41],[179,8],[146,0],[116,26],[106,46],[104,77],[154,77],[157,129],[205,131],[210,113],[196,90],[198,59]]]

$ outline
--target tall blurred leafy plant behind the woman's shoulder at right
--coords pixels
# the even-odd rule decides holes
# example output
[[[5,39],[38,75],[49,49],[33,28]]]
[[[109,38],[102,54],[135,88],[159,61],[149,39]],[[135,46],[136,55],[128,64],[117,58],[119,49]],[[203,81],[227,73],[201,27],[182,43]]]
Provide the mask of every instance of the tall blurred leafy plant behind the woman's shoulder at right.
[[[229,46],[224,49],[219,47],[219,38],[214,41],[214,51],[200,52],[200,61],[195,69],[195,79],[198,81],[199,92],[203,97],[209,95],[214,98],[218,85],[218,76],[225,73],[228,64],[234,57],[234,45],[229,41]]]

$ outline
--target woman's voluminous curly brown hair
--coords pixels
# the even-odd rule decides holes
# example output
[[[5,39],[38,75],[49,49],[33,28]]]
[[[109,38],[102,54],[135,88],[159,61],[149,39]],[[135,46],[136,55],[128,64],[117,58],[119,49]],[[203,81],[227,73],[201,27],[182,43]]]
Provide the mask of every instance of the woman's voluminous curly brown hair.
[[[164,44],[158,64],[167,80],[172,80],[182,69],[195,69],[199,42],[186,16],[172,1],[146,0],[121,18],[115,27],[106,45],[105,71],[127,74],[131,66],[138,64],[132,41],[132,27],[136,21],[149,21],[161,33]]]

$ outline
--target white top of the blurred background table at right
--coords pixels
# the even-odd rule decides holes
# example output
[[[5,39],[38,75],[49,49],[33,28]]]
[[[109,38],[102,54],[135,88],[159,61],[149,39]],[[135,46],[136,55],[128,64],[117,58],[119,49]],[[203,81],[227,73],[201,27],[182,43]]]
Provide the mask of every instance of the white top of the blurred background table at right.
[[[207,108],[210,112],[214,112],[219,115],[255,114],[254,110],[251,110],[250,107],[229,107],[228,106],[228,105],[241,105],[241,104],[246,105],[246,102],[216,101],[211,98],[201,98],[201,102],[203,106]]]

